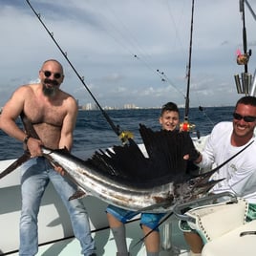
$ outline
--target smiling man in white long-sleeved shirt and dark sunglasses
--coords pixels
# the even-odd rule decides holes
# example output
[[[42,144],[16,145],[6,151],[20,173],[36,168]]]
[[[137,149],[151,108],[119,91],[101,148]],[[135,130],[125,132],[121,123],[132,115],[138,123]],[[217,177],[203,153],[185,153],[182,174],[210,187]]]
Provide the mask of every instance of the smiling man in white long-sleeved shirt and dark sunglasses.
[[[215,175],[214,180],[223,179],[211,190],[213,193],[230,191],[243,197],[249,203],[247,219],[256,219],[256,97],[244,96],[236,104],[233,122],[220,122],[212,130],[203,153],[195,161],[205,168],[215,163],[217,166],[247,148],[234,159],[228,161]],[[254,215],[253,215],[254,213]],[[196,232],[184,232],[190,246],[190,255],[200,256],[203,240]]]

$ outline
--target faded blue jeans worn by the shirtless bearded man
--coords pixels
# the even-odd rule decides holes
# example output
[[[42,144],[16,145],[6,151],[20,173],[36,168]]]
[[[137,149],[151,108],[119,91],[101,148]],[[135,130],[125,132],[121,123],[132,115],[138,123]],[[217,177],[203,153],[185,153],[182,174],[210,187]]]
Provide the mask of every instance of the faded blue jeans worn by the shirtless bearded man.
[[[37,216],[44,191],[52,181],[54,189],[65,204],[71,218],[75,238],[82,247],[81,253],[89,256],[96,252],[91,236],[87,211],[79,200],[69,201],[76,186],[54,171],[45,158],[34,158],[21,168],[22,210],[20,218],[19,255],[33,256],[38,251]]]

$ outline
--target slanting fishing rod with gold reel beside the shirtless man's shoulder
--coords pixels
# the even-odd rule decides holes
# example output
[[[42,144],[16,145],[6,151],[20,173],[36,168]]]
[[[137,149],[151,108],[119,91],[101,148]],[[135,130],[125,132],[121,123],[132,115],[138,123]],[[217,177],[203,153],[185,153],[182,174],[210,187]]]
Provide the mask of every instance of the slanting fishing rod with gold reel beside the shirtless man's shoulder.
[[[96,100],[96,97],[93,95],[93,93],[90,91],[90,89],[88,88],[88,86],[86,85],[86,83],[84,82],[84,77],[82,77],[81,75],[78,74],[78,72],[76,71],[74,65],[71,63],[67,53],[64,53],[64,51],[61,49],[61,47],[59,46],[59,44],[57,43],[57,41],[55,40],[55,38],[53,37],[53,32],[50,32],[47,28],[47,26],[45,25],[45,23],[41,20],[41,16],[40,13],[37,13],[33,7],[32,4],[30,3],[29,0],[26,0],[26,2],[28,3],[28,5],[30,6],[30,8],[32,9],[33,13],[36,15],[36,17],[38,18],[38,20],[40,21],[40,23],[43,25],[44,29],[46,30],[46,32],[48,32],[48,34],[51,36],[51,38],[53,39],[54,44],[56,45],[56,47],[58,48],[58,50],[60,51],[60,53],[62,53],[62,55],[65,57],[65,59],[68,61],[69,65],[71,66],[71,68],[73,69],[73,71],[75,72],[75,75],[77,75],[77,77],[79,78],[79,80],[81,81],[81,83],[83,84],[83,86],[85,87],[85,89],[87,90],[87,92],[90,94],[90,96],[93,97],[93,99],[96,102],[97,107],[99,108],[99,110],[101,111],[101,113],[103,114],[103,117],[106,118],[107,122],[110,124],[111,128],[113,129],[113,131],[117,134],[118,138],[122,141],[122,143],[126,143],[128,141],[128,139],[133,138],[133,134],[131,132],[128,131],[120,131],[120,127],[119,125],[115,125],[114,122],[112,121],[112,119],[109,117],[109,115],[102,109],[102,107],[100,106],[100,104],[98,103],[98,101]]]

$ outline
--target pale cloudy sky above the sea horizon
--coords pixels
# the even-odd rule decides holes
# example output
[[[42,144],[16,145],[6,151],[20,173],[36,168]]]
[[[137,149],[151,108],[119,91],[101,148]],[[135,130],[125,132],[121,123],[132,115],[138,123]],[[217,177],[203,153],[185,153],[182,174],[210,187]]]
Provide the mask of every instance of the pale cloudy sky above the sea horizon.
[[[30,3],[102,107],[184,104],[191,0],[31,0]],[[256,10],[256,1],[248,1]],[[250,73],[256,22],[245,7]],[[94,103],[26,0],[0,0],[0,106],[35,81],[44,60],[65,70],[62,89]],[[243,52],[239,0],[195,0],[190,106],[234,105]]]

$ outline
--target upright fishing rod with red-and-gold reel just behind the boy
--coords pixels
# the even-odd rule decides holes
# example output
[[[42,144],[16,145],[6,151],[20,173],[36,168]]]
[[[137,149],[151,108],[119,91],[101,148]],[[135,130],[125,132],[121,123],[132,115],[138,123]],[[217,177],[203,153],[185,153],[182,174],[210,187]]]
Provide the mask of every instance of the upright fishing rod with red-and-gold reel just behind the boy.
[[[190,131],[195,128],[195,124],[188,122],[189,113],[189,90],[190,90],[190,76],[191,76],[191,59],[192,59],[192,39],[193,39],[193,23],[194,23],[194,3],[192,0],[192,11],[191,11],[191,22],[190,22],[190,43],[189,43],[189,58],[187,66],[187,86],[186,86],[186,96],[185,96],[185,110],[184,110],[184,121],[180,124],[182,131]]]

